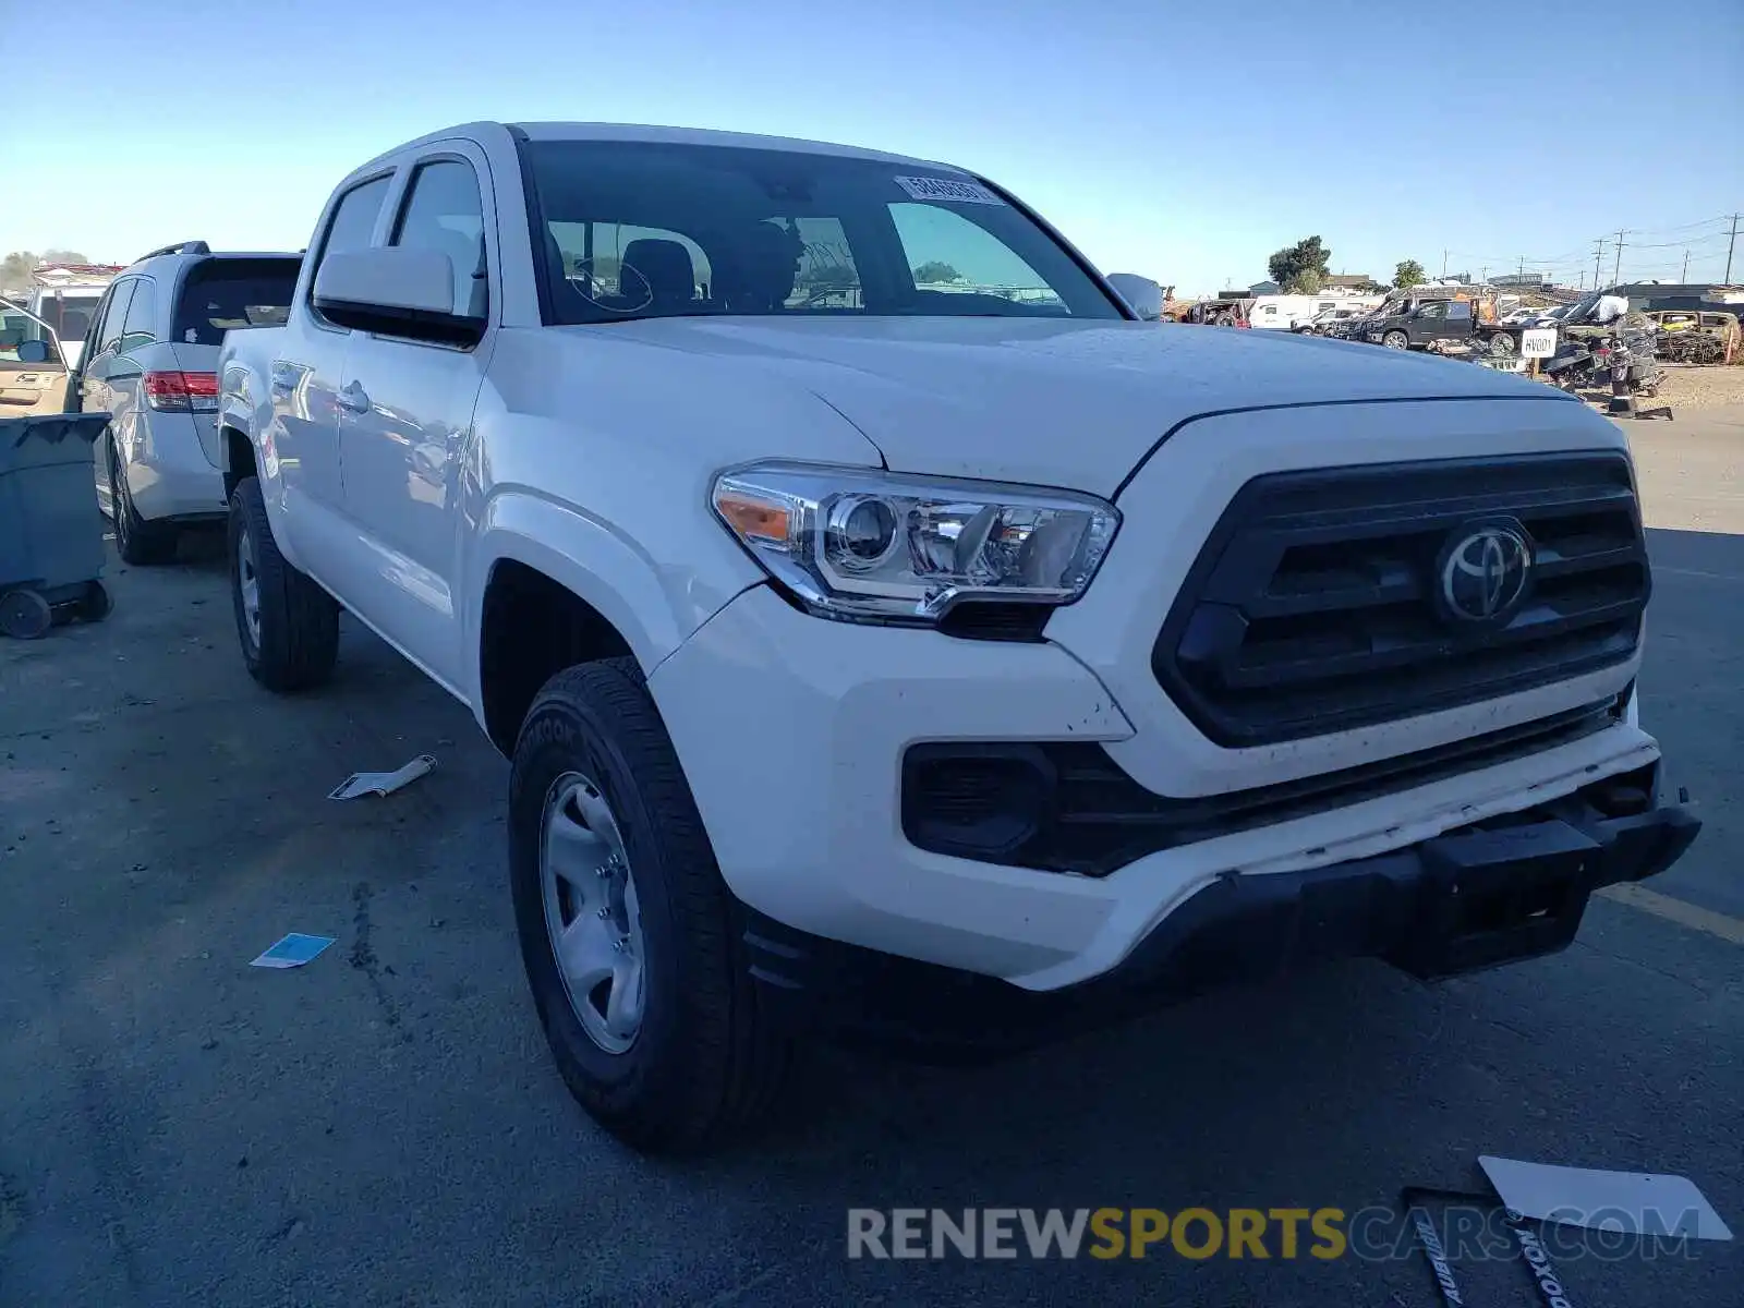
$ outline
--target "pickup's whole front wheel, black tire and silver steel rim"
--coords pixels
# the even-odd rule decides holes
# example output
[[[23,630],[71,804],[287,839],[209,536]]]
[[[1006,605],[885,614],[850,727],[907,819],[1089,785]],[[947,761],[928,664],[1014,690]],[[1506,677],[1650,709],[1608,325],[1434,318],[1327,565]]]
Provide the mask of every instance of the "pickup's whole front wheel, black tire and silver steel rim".
[[[528,710],[509,881],[539,1022],[602,1127],[685,1153],[767,1111],[790,1043],[759,1008],[743,914],[631,659],[569,668]]]

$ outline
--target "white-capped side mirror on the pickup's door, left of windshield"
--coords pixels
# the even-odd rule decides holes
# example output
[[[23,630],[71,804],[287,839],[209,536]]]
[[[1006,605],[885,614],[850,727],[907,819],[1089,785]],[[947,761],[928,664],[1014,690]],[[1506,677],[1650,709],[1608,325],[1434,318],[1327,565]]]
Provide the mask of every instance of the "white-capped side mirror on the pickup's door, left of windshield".
[[[485,319],[453,312],[453,260],[439,249],[384,246],[347,249],[321,260],[316,309],[338,326],[476,345]]]

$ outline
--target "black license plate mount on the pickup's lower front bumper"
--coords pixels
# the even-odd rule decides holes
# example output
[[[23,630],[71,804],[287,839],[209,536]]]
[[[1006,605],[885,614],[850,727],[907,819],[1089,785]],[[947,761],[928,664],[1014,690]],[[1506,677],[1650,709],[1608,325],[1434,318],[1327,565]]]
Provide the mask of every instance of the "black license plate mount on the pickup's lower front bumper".
[[[1449,977],[1563,949],[1599,884],[1601,846],[1566,821],[1444,835],[1421,846],[1414,930],[1392,961]]]

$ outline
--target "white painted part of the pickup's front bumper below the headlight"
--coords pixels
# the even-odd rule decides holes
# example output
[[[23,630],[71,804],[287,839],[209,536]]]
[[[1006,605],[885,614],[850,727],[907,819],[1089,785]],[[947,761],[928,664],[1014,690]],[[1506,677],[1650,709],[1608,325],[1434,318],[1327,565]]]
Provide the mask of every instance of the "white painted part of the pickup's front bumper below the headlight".
[[[1217,886],[1289,898],[1292,877],[1308,886],[1322,869],[1543,813],[1659,760],[1652,736],[1624,719],[1406,790],[1205,834],[1090,877],[921,849],[902,823],[910,745],[1132,739],[1102,682],[1060,645],[830,623],[755,586],[661,663],[649,689],[745,905],[802,938],[1024,991],[1130,966],[1160,947],[1149,942],[1170,938],[1179,914],[1230,893]],[[1650,875],[1652,862],[1629,865]],[[1606,867],[1620,865],[1608,856]]]

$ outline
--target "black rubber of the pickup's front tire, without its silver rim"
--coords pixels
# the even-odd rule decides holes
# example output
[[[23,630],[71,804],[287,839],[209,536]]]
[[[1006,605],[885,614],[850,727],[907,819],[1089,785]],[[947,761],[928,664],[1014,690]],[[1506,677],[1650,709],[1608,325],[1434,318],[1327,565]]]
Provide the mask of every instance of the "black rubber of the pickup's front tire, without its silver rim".
[[[635,886],[640,1017],[628,1048],[589,1034],[579,1012],[586,999],[572,999],[558,963],[562,917],[548,926],[546,823],[576,776],[609,807]],[[539,1022],[595,1121],[644,1153],[698,1153],[767,1113],[792,1043],[760,1008],[743,957],[743,909],[631,659],[569,668],[528,710],[509,780],[509,881]],[[577,909],[570,926],[581,921]]]

